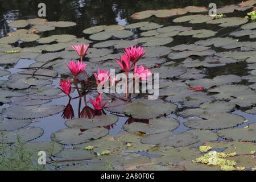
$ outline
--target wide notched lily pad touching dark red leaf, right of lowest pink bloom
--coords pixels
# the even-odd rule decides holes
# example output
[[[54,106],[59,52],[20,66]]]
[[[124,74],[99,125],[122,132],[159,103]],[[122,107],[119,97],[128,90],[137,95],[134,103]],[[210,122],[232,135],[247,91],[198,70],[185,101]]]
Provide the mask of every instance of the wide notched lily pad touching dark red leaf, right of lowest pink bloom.
[[[155,118],[150,119],[149,123],[130,123],[129,125],[123,125],[123,128],[130,133],[140,131],[146,134],[157,134],[164,131],[175,130],[179,126],[179,122],[173,118]]]

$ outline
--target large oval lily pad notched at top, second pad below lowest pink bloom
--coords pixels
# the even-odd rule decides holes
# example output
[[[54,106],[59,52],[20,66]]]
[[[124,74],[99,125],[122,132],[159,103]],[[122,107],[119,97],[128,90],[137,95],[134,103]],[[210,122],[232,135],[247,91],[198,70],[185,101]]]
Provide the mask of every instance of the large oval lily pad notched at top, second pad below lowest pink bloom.
[[[85,131],[81,130],[80,127],[72,127],[56,131],[51,135],[51,138],[61,144],[80,144],[104,137],[108,133],[109,130],[102,127],[95,127]]]

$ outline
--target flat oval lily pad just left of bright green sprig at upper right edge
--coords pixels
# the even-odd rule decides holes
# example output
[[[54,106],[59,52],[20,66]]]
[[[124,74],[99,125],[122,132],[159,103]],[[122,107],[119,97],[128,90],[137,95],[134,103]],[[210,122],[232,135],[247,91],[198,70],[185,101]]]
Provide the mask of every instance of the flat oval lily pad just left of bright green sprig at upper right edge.
[[[218,18],[214,20],[209,20],[207,23],[210,24],[219,24],[220,27],[232,27],[232,26],[239,26],[248,22],[245,18],[240,17],[232,17],[232,18]]]

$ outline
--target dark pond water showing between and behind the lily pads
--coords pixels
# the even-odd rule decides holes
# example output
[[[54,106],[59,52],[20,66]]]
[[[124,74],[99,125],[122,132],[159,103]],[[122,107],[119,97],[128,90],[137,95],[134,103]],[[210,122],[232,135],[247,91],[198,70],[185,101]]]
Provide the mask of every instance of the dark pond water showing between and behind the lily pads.
[[[158,10],[158,9],[173,9],[185,6],[205,6],[208,7],[209,3],[216,3],[217,7],[221,7],[224,5],[232,5],[237,4],[241,1],[213,1],[213,0],[193,0],[193,1],[172,1],[172,0],[152,0],[152,1],[104,1],[104,0],[63,0],[63,1],[42,1],[42,0],[28,0],[28,1],[15,1],[9,0],[0,1],[0,38],[7,35],[7,33],[15,31],[16,28],[10,28],[7,24],[13,22],[18,19],[29,19],[29,18],[38,18],[38,4],[44,2],[46,3],[47,11],[46,11],[46,19],[49,21],[71,21],[76,22],[77,26],[75,27],[67,27],[67,28],[56,28],[54,31],[40,32],[39,35],[43,37],[50,35],[58,35],[58,34],[72,34],[76,35],[77,38],[85,38],[88,39],[88,35],[83,34],[82,31],[85,28],[98,26],[98,25],[110,25],[110,24],[119,24],[121,26],[126,26],[127,24],[140,22],[140,20],[132,19],[130,16],[138,11],[144,10]],[[247,11],[235,11],[234,13],[228,14],[228,16],[238,16],[244,17]],[[149,22],[155,22],[159,24],[164,24],[164,26],[173,25],[173,18],[156,18],[151,16],[151,18],[147,18],[146,20]],[[191,26],[189,23],[181,23],[182,26]],[[193,24],[193,29],[208,29],[213,31],[220,31],[219,36],[228,34],[234,30],[237,30],[237,27],[228,27],[221,30],[221,27],[218,27],[213,24]],[[138,35],[139,36],[139,35]],[[193,43],[197,39],[192,38],[191,36],[184,36],[182,39],[176,38],[170,44],[165,46],[172,47],[177,44],[188,44]],[[248,37],[242,37],[240,41],[252,41]],[[14,46],[19,47],[32,47],[36,46],[36,43],[15,43]],[[215,48],[215,51],[224,51],[221,48]],[[165,57],[168,59],[167,57]],[[169,59],[170,60],[170,59]],[[177,61],[180,62],[180,61]],[[30,64],[35,63],[34,60],[19,60],[19,62],[15,65],[11,65],[8,69],[11,73],[19,72],[19,68],[29,67]],[[218,75],[238,75],[245,76],[248,75],[247,71],[245,71],[247,64],[245,63],[234,63],[228,64],[225,67],[214,67],[214,68],[205,68],[205,74],[207,75],[205,78],[213,78]],[[6,65],[2,68],[6,68]],[[1,80],[7,80],[8,76],[1,77]],[[53,85],[59,85],[59,79],[52,79]],[[242,84],[248,85],[247,81],[241,82]],[[76,93],[73,93],[73,96],[76,97]],[[90,97],[90,94],[89,94]],[[61,97],[55,100],[52,100],[48,104],[44,104],[42,106],[47,105],[67,105],[68,97]],[[78,100],[72,100],[71,104],[73,106],[73,110],[75,111],[75,116],[77,117],[77,110],[79,109]],[[175,103],[178,104],[179,103]],[[10,104],[4,104],[0,106],[0,108],[6,108],[11,106]],[[82,105],[81,107],[84,107]],[[253,114],[247,114],[243,112],[243,109],[238,108],[233,111],[234,114],[242,115],[245,119],[248,119],[249,122],[239,125],[239,128],[247,126],[249,123],[255,122],[256,117]],[[38,126],[44,129],[44,134],[42,137],[34,140],[34,141],[51,141],[51,134],[55,133],[57,130],[63,129],[67,126],[64,125],[66,119],[61,117],[62,113],[55,114],[50,117],[38,118],[34,119],[35,122],[30,126]],[[179,127],[173,131],[174,134],[179,134],[183,131],[187,131],[189,128],[186,127],[183,123],[187,121],[187,118],[180,117],[177,114],[170,114],[168,117],[175,118],[180,122]],[[113,129],[110,129],[110,135],[116,135],[119,131],[122,131],[122,126],[127,121],[127,117],[119,117],[117,123],[115,123]],[[225,140],[219,138],[218,140]],[[144,155],[148,155],[146,153],[142,153]],[[154,157],[152,155],[151,157]]]

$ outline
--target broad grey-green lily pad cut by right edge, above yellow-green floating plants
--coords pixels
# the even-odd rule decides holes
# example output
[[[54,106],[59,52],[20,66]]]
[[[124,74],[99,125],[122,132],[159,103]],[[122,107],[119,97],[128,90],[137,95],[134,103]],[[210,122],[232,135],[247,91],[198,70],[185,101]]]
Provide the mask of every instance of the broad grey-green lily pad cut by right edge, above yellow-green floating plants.
[[[222,138],[229,140],[238,140],[243,142],[256,141],[255,136],[256,123],[251,123],[247,128],[225,129],[217,131],[218,135]]]

